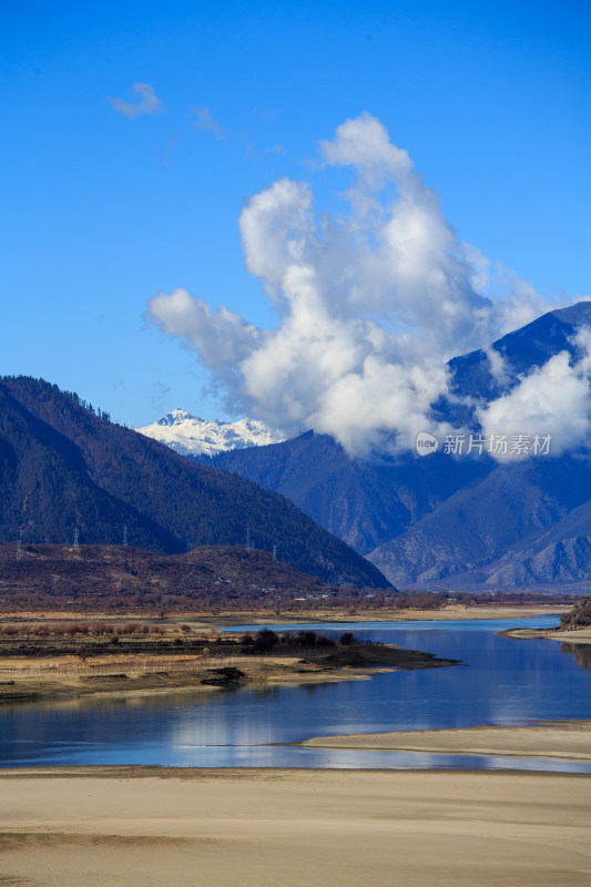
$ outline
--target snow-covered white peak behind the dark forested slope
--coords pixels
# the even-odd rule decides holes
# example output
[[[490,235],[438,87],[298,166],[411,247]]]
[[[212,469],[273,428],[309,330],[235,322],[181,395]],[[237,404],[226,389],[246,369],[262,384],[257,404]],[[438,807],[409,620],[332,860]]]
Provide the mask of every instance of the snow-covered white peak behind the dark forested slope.
[[[284,436],[255,419],[206,421],[186,409],[173,409],[152,425],[136,429],[182,456],[216,456],[227,450],[278,443]]]

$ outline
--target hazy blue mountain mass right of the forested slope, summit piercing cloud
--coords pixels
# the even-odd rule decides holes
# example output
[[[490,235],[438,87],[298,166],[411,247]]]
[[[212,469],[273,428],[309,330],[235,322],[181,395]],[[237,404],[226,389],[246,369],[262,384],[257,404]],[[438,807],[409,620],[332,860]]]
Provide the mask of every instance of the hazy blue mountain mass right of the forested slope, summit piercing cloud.
[[[520,375],[559,351],[574,355],[573,336],[585,326],[590,302],[493,343],[502,378],[485,350],[455,358],[452,391],[471,402],[441,400],[440,417],[470,424],[477,404],[507,392]],[[222,453],[214,463],[289,497],[398,587],[553,584],[591,575],[589,451],[512,465],[441,452],[363,461],[309,431]]]

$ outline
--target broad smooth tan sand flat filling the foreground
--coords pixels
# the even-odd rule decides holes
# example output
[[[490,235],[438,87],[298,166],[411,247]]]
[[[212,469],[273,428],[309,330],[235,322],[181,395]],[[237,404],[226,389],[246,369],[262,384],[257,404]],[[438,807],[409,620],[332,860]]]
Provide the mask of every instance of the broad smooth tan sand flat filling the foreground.
[[[11,887],[582,887],[591,777],[495,772],[0,772]]]

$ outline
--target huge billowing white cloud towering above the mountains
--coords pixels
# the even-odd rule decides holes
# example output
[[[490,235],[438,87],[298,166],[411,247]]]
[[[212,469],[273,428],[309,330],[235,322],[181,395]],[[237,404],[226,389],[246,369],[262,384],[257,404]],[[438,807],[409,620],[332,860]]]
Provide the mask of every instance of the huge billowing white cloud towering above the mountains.
[[[449,431],[430,407],[448,392],[450,357],[557,306],[458,239],[376,118],[346,121],[319,150],[324,167],[355,171],[345,212],[319,215],[309,184],[281,179],[240,216],[275,329],[183,289],[152,299],[149,317],[197,351],[235,408],[288,432],[314,427],[355,455],[407,449],[419,431]]]

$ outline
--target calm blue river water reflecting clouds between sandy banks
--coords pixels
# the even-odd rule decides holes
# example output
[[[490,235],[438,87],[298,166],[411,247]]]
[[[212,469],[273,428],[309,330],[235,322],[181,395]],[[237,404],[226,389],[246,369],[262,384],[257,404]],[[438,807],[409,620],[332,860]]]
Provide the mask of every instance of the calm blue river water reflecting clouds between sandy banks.
[[[353,629],[358,638],[459,659],[466,665],[324,685],[6,706],[0,710],[0,766],[454,766],[589,773],[591,765],[572,762],[282,745],[346,733],[591,718],[591,670],[580,650],[573,654],[554,641],[496,636],[497,631],[523,624],[546,628],[557,620],[279,626],[314,628],[324,634]]]

